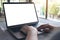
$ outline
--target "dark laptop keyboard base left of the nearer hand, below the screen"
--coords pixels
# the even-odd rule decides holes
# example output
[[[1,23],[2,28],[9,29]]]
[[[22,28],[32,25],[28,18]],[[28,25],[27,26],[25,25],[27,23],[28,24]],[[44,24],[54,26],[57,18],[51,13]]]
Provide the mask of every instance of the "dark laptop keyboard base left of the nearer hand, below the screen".
[[[25,35],[19,31],[19,28],[8,28],[7,31],[17,40],[25,39]]]

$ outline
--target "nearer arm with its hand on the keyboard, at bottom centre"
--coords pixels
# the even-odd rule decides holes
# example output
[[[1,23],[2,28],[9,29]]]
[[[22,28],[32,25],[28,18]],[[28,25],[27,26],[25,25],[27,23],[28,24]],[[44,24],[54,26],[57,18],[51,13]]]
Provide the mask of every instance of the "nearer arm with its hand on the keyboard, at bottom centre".
[[[24,26],[22,30],[27,33],[26,40],[38,40],[37,29],[33,26]]]

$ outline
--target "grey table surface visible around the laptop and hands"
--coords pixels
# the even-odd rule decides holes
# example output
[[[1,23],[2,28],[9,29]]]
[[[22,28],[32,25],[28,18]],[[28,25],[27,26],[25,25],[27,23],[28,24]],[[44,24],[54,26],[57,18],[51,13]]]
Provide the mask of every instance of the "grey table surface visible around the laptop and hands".
[[[57,22],[55,23],[55,22],[52,22],[52,21],[49,21],[49,20],[46,20],[46,19],[44,19],[44,20],[40,19],[39,21],[40,22],[37,24],[38,26],[40,26],[41,24],[44,24],[44,23],[45,24],[49,23],[49,24],[52,24],[54,26],[60,26],[60,23],[57,23]],[[2,30],[6,29],[5,26],[6,26],[5,22],[0,22],[0,27],[3,27]],[[0,29],[0,40],[15,40],[15,38],[12,37],[9,32],[2,31],[2,30]],[[60,34],[60,27],[56,27],[50,33],[42,33],[42,34],[38,35],[38,39],[39,40],[60,40],[59,39],[59,37],[60,37],[59,34]],[[58,36],[56,36],[56,35],[58,35]]]

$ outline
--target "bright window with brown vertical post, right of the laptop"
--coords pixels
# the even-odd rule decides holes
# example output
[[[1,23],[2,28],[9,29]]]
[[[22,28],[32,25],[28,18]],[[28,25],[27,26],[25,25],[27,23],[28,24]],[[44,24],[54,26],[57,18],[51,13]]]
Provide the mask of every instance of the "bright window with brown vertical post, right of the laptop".
[[[33,0],[38,17],[60,22],[60,0]]]

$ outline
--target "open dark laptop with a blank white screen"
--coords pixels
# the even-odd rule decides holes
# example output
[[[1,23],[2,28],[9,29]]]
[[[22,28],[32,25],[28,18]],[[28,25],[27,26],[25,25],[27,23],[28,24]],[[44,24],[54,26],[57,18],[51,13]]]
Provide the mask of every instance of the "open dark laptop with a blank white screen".
[[[3,9],[7,29],[10,33],[15,35],[17,39],[22,38],[18,36],[18,31],[23,25],[34,25],[38,23],[38,16],[34,3],[3,3]]]

